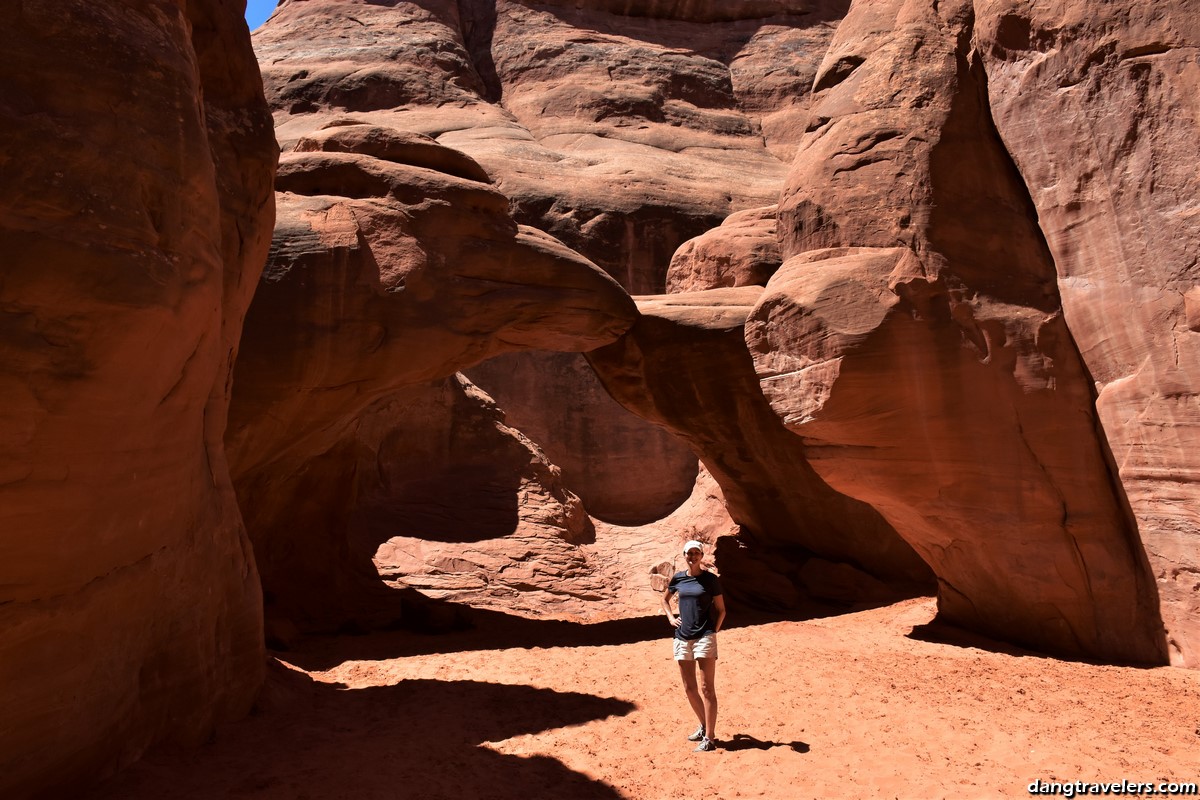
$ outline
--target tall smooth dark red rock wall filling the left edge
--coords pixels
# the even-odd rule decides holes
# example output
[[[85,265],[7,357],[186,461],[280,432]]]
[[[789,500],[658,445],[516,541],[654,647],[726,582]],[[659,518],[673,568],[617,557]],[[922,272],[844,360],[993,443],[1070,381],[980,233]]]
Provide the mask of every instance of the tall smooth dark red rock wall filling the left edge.
[[[242,10],[0,29],[0,795],[198,745],[263,675],[222,433],[277,149]]]

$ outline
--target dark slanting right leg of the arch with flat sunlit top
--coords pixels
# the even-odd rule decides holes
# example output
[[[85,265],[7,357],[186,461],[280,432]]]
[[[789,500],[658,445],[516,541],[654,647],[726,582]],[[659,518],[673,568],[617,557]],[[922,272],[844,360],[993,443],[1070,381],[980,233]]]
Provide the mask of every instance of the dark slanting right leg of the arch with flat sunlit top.
[[[587,359],[613,397],[682,437],[720,485],[743,546],[719,551],[719,564],[755,576],[740,582],[744,599],[793,607],[803,596],[800,565],[814,554],[928,585],[932,576],[912,548],[878,512],[817,476],[800,438],[758,390],[744,327],[762,291],[641,297],[634,327]],[[739,569],[749,560],[752,572]],[[762,579],[772,573],[773,581]]]

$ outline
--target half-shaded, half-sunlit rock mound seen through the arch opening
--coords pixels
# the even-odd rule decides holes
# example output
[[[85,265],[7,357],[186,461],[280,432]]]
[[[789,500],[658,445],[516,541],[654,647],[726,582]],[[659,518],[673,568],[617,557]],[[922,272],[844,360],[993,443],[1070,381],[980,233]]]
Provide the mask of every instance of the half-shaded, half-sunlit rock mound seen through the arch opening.
[[[580,616],[611,595],[578,547],[595,541],[583,504],[466,378],[389,397],[356,441],[350,539],[386,581],[540,616]]]

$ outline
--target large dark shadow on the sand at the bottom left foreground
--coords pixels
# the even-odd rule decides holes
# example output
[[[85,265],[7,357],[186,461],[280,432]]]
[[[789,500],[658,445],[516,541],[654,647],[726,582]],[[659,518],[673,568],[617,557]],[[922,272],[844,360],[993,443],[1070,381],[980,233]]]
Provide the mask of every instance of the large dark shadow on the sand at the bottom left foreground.
[[[617,698],[521,685],[404,680],[346,688],[275,664],[260,709],[215,744],[160,750],[101,786],[92,800],[355,800],[620,795],[553,758],[486,746],[625,715]]]

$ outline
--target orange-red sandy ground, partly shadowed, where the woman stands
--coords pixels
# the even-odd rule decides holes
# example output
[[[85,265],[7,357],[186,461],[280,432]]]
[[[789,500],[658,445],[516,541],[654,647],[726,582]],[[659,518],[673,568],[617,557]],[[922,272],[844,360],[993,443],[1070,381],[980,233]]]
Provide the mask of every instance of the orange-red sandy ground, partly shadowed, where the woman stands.
[[[732,609],[712,753],[685,740],[696,722],[662,618],[310,639],[280,654],[289,666],[254,716],[95,796],[1028,798],[1034,780],[1200,782],[1200,673],[936,643],[919,632],[932,612]]]

